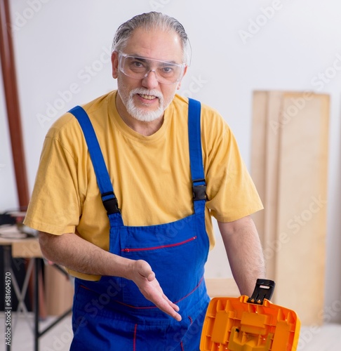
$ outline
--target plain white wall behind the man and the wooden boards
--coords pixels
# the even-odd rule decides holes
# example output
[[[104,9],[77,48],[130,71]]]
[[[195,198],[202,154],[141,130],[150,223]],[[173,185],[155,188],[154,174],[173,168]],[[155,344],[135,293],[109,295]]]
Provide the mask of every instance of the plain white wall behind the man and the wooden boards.
[[[326,308],[331,306],[328,316],[340,322],[340,311],[335,312],[341,300],[338,0],[11,0],[30,189],[53,121],[116,87],[107,53],[116,28],[153,10],[173,15],[187,29],[193,57],[182,93],[222,113],[249,167],[254,90],[330,94]],[[17,199],[1,92],[0,104],[0,210],[5,210]],[[225,263],[218,241],[208,276],[229,277]]]

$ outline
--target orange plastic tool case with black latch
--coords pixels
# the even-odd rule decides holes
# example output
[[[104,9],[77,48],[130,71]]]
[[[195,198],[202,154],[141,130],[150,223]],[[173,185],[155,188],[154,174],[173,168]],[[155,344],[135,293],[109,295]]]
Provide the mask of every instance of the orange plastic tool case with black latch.
[[[258,279],[253,295],[213,298],[201,334],[201,351],[295,351],[300,319],[269,300],[274,282]]]

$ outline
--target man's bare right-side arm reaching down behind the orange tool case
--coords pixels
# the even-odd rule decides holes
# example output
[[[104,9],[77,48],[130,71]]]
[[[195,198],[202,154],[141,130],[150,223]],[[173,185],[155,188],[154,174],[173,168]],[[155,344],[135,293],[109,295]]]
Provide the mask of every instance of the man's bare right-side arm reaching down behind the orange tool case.
[[[250,216],[218,222],[229,265],[241,295],[251,296],[258,278],[265,278],[262,245]]]

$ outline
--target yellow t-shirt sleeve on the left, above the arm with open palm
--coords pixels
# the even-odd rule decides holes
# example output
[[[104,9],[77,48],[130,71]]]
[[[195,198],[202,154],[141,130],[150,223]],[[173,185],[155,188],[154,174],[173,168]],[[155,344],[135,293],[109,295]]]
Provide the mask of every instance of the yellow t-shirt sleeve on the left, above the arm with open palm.
[[[41,232],[75,232],[81,213],[78,163],[58,133],[44,140],[25,225]]]

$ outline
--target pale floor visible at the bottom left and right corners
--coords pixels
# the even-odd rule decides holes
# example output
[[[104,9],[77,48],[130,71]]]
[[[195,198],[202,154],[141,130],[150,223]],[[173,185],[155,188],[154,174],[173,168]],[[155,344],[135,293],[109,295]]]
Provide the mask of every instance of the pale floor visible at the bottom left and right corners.
[[[41,322],[41,329],[53,321],[53,317]],[[4,335],[4,316],[0,317],[0,333]],[[20,316],[12,318],[12,347],[13,351],[33,351],[32,336],[33,316],[27,319]],[[3,343],[4,338],[1,338]],[[71,318],[66,317],[39,340],[39,351],[68,351],[72,340]],[[0,345],[0,350],[6,350]],[[303,326],[297,351],[340,351],[341,324],[326,324],[321,327]]]

